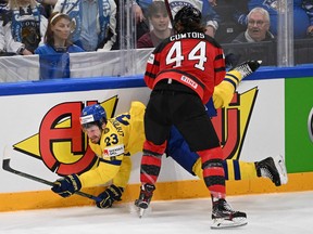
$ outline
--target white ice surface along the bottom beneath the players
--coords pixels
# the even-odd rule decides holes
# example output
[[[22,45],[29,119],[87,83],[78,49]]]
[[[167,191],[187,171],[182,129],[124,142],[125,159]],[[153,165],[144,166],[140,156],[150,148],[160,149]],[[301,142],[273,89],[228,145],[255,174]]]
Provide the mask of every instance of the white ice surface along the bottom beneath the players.
[[[112,234],[112,233],[312,233],[313,191],[229,196],[229,204],[248,214],[248,225],[211,230],[209,198],[151,203],[141,219],[130,204],[111,209],[75,207],[0,213],[1,234]]]

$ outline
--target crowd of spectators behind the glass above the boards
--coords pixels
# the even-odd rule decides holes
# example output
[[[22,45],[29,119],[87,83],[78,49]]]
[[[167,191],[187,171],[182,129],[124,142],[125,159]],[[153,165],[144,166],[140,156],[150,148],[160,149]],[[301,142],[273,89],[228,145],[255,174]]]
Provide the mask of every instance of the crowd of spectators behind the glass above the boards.
[[[121,6],[121,2],[125,4]],[[188,4],[202,12],[205,34],[222,46],[225,44],[229,64],[236,65],[247,58],[262,58],[263,65],[272,65],[266,60],[268,54],[264,54],[267,51],[251,43],[276,43],[277,18],[279,8],[283,8],[278,0],[168,2],[172,15]],[[172,15],[167,14],[162,0],[0,0],[0,54],[30,55],[118,49],[118,8],[129,8],[136,22],[134,48],[154,48],[173,34]],[[55,49],[49,40],[60,30],[51,30],[50,25],[57,13],[67,15],[71,20],[72,28],[66,38],[71,43],[62,46],[64,50]],[[293,22],[295,39],[313,38],[313,0],[293,1]],[[245,50],[240,48],[243,43]],[[231,48],[229,44],[235,46]],[[46,46],[45,50],[42,46]]]

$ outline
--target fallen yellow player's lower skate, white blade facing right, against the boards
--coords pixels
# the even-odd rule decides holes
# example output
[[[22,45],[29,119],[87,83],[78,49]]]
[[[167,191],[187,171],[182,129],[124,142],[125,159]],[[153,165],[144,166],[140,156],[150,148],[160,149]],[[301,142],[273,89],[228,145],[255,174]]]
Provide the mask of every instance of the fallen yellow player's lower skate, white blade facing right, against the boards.
[[[267,157],[255,162],[258,177],[270,178],[276,186],[288,182],[285,160],[281,155]]]

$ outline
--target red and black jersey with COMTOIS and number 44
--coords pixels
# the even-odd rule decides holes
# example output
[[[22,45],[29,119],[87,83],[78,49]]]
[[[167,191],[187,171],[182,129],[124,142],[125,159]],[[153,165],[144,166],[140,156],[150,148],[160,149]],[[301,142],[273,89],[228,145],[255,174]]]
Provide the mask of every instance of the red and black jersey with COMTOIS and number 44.
[[[173,35],[155,48],[147,63],[145,81],[153,89],[161,79],[176,80],[196,91],[205,104],[225,75],[221,46],[193,31]]]

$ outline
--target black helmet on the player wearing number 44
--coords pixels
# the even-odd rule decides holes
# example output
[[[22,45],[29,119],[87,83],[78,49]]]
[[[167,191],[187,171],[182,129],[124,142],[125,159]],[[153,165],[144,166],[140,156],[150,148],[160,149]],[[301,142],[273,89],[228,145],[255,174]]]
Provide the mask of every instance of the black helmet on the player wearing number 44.
[[[179,21],[183,25],[189,25],[191,23],[200,24],[201,12],[191,5],[185,5],[175,15],[174,25],[177,24]]]

